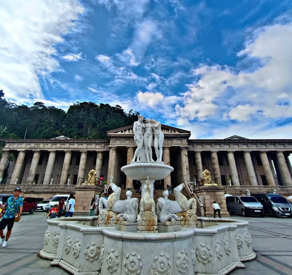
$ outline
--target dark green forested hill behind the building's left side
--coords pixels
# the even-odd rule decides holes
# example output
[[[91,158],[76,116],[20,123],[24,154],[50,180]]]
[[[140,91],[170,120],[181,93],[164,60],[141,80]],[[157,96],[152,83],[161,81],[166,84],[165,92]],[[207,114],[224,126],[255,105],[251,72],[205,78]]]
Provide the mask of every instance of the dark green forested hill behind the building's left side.
[[[0,90],[0,139],[106,139],[106,132],[138,120],[138,112],[128,113],[116,105],[77,102],[67,112],[36,102],[32,107],[16,105]]]

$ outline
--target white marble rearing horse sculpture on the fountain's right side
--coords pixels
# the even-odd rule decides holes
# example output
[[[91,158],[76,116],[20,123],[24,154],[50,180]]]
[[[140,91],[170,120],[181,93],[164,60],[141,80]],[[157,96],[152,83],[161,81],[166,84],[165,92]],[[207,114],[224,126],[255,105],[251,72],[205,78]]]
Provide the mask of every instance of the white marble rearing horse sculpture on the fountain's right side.
[[[190,198],[189,200],[181,193],[183,190],[184,183],[178,185],[173,189],[175,201],[171,201],[169,199],[165,199],[166,206],[164,206],[161,201],[157,202],[156,209],[157,209],[157,216],[160,217],[161,210],[166,211],[166,214],[178,214],[180,212],[187,211],[192,207],[194,213],[197,211],[197,202],[196,199]]]

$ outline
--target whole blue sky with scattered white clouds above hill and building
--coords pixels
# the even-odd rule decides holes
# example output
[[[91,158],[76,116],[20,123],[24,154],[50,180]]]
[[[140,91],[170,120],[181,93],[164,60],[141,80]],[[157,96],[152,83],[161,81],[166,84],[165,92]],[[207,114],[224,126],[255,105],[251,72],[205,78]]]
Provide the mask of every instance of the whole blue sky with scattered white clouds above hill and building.
[[[193,139],[291,138],[290,0],[14,0],[0,18],[0,89],[18,104],[118,104]]]

